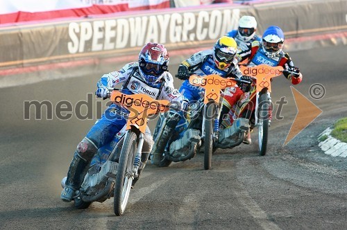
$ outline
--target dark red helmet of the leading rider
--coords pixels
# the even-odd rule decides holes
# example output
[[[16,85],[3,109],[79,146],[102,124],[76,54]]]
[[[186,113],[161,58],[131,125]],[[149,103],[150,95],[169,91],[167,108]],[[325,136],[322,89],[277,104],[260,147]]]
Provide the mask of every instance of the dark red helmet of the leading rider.
[[[147,43],[139,52],[139,73],[144,80],[153,84],[162,78],[162,73],[167,71],[169,53],[164,45]]]

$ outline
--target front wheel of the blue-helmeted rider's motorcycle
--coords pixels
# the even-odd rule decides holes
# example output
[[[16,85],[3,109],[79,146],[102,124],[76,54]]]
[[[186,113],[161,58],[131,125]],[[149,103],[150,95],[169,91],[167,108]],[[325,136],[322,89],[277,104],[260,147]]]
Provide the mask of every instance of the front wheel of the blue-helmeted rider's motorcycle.
[[[258,115],[258,147],[260,156],[266,154],[267,139],[269,134],[269,108],[270,101],[263,90],[259,96],[259,115]]]

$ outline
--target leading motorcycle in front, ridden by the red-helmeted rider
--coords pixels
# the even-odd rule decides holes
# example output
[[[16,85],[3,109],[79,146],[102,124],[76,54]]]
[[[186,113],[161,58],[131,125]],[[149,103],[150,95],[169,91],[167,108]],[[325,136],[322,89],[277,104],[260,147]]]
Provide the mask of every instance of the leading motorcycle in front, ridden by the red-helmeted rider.
[[[124,129],[115,136],[117,144],[113,141],[112,151],[103,154],[101,148],[96,153],[81,188],[76,191],[74,205],[86,209],[92,202],[104,202],[114,197],[115,215],[122,215],[133,180],[139,177],[139,168],[143,168],[142,164],[146,162],[144,157],[148,158],[142,156],[147,119],[153,114],[166,112],[169,100],[155,100],[146,94],[122,94],[119,89],[112,91],[110,99],[128,109],[130,114]],[[108,155],[106,160],[103,159],[105,155]]]

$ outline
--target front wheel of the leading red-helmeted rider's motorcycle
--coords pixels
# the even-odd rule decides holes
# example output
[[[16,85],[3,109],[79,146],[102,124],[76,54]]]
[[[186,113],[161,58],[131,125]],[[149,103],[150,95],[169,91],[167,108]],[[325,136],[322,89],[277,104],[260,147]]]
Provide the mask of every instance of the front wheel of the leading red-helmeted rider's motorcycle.
[[[130,195],[131,184],[133,183],[134,159],[137,150],[137,135],[129,131],[124,140],[115,184],[115,197],[113,209],[116,215],[122,215],[126,210]]]

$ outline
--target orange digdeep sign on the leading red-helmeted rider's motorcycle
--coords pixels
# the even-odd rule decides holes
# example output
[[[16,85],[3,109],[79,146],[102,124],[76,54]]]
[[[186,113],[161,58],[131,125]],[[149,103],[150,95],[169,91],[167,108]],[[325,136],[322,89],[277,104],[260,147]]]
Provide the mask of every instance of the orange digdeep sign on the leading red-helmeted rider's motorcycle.
[[[144,133],[148,116],[169,110],[169,100],[155,100],[146,94],[128,95],[114,90],[110,98],[113,103],[126,107],[130,111],[126,130],[129,130],[131,125],[135,125]]]

